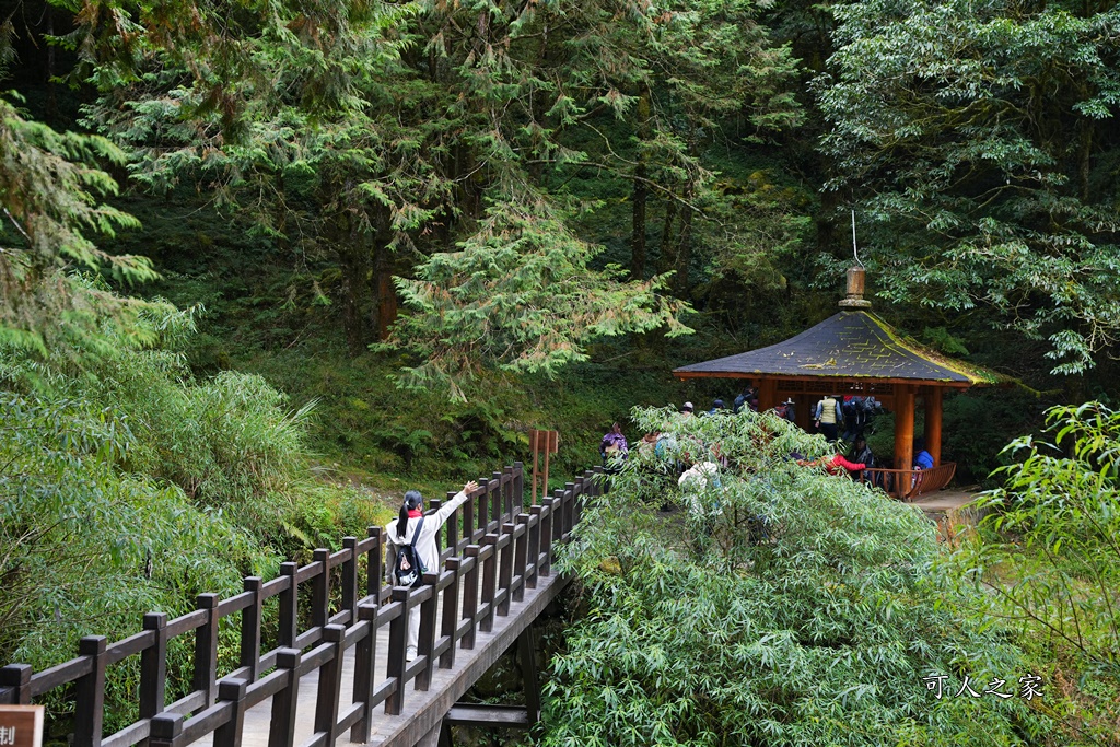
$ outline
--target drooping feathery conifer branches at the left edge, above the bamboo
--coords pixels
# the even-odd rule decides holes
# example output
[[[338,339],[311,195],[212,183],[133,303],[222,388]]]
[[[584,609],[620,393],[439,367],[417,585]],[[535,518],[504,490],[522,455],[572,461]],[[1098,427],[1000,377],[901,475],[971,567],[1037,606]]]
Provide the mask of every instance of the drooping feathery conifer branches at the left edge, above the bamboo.
[[[103,271],[130,283],[158,277],[148,260],[109,253],[90,239],[139,226],[97,202],[116,194],[97,162],[122,159],[104,138],[56,132],[0,99],[0,343],[45,352],[48,338],[60,337],[95,347],[101,318],[128,326],[141,312],[140,301],[73,274]]]

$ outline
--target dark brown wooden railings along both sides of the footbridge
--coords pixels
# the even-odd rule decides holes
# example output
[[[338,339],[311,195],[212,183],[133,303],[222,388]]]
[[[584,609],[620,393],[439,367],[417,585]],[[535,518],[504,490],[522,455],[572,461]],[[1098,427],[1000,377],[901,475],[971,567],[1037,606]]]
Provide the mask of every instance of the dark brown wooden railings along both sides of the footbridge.
[[[245,711],[271,697],[269,745],[291,747],[299,679],[319,670],[315,736],[302,747],[334,747],[346,729],[354,741],[367,741],[374,708],[384,703],[386,713],[401,713],[408,682],[427,690],[437,664],[455,666],[456,644],[473,648],[477,631],[491,631],[495,615],[508,614],[511,600],[520,601],[526,588],[536,587],[539,577],[551,575],[556,547],[569,538],[585,499],[601,492],[598,471],[585,473],[533,506],[524,505],[520,461],[480,479],[478,489],[448,519],[444,536],[438,538],[442,569],[427,573],[420,587],[383,583],[385,539],[380,527],[370,527],[363,540],[344,538],[338,552],[316,550],[307,566],[282,563],[271,581],[244,579],[244,591],[236,596],[200,595],[197,609],[181,617],[169,620],[164,613],[149,613],[143,616],[143,629],[123,641],[86,636],[78,643],[77,657],[57,666],[41,672],[26,664],[4,666],[0,669],[0,703],[30,703],[73,685],[73,747],[183,747],[209,734],[215,747],[235,747]],[[437,510],[440,503],[432,501],[431,507]],[[357,561],[363,554],[367,560],[364,578],[360,578]],[[330,580],[336,568],[340,568],[336,573],[339,601],[332,614]],[[304,631],[298,614],[301,592],[310,596],[310,625]],[[442,617],[437,620],[440,595]],[[262,653],[262,605],[273,597],[279,597],[278,646]],[[408,618],[417,609],[418,656],[407,662]],[[236,613],[241,613],[240,666],[220,680],[218,625]],[[374,687],[376,636],[386,625],[386,679]],[[192,632],[193,690],[165,706],[168,645]],[[355,646],[354,702],[339,712],[343,654]],[[103,738],[106,671],[137,655],[140,719]]]

